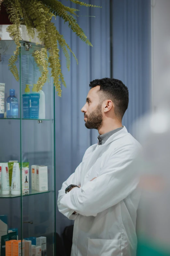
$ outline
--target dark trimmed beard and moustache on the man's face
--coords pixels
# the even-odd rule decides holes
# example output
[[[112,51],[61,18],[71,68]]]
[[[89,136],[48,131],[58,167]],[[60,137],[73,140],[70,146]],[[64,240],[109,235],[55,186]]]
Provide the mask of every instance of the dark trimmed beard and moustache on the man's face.
[[[86,116],[86,114],[84,114]],[[99,104],[97,108],[87,116],[87,122],[85,127],[88,129],[97,129],[102,125],[102,104]]]

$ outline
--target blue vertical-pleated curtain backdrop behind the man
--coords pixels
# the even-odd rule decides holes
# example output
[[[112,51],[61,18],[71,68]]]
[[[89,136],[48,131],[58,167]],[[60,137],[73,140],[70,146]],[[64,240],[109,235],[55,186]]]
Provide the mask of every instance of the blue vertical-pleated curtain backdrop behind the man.
[[[61,2],[80,9],[78,24],[93,47],[82,42],[61,18],[53,20],[78,58],[77,65],[71,56],[68,72],[61,52],[67,88],[62,87],[62,98],[56,96],[56,197],[62,183],[81,162],[85,150],[97,143],[98,132],[85,128],[81,113],[90,81],[114,77],[128,86],[130,102],[123,125],[129,130],[133,121],[149,110],[150,97],[150,1],[85,1],[102,8],[79,7],[65,0]],[[57,210],[58,233],[71,223]]]

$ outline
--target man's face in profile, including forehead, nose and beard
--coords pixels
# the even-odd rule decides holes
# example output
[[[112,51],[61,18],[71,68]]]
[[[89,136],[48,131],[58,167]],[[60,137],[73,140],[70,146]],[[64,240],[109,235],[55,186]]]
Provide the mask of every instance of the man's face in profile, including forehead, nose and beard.
[[[88,129],[99,129],[102,125],[102,103],[97,92],[99,90],[100,86],[96,86],[89,91],[86,104],[81,109],[84,113],[85,126]]]

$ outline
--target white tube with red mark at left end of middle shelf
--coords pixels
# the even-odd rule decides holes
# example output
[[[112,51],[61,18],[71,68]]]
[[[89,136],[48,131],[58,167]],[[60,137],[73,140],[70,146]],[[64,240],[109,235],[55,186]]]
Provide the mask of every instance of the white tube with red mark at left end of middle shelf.
[[[9,195],[9,171],[8,171],[8,163],[2,164],[1,171],[1,194]]]

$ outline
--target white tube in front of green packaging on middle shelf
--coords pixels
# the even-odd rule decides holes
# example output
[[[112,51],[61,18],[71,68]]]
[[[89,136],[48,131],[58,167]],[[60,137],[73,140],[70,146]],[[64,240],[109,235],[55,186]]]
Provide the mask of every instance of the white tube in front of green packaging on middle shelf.
[[[21,174],[19,163],[14,163],[12,169],[11,195],[21,195]]]

